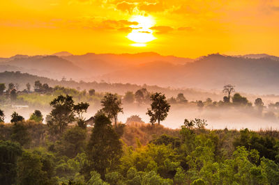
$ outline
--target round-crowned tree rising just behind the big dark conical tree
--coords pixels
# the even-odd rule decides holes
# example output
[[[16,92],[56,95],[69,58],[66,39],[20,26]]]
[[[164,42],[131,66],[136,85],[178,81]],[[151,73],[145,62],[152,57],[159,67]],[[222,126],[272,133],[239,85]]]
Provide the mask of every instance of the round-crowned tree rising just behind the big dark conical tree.
[[[121,107],[121,99],[117,94],[107,93],[105,97],[100,101],[103,108],[102,111],[107,114],[108,118],[114,118],[114,124],[117,124],[118,113],[123,113],[123,108]]]

